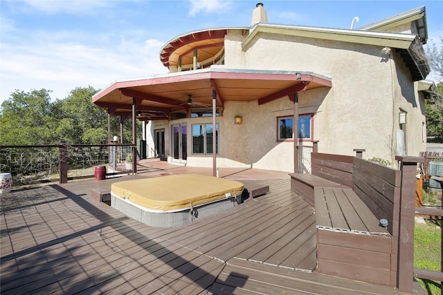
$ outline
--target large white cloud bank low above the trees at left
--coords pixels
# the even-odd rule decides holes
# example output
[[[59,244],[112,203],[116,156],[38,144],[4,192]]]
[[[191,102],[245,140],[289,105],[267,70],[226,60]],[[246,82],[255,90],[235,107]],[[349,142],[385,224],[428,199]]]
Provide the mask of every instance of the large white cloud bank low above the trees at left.
[[[16,88],[26,92],[46,88],[53,91],[53,99],[62,99],[78,86],[105,88],[116,79],[166,73],[159,59],[163,44],[125,36],[116,44],[100,46],[49,37],[30,40],[26,46],[2,44],[0,103]]]

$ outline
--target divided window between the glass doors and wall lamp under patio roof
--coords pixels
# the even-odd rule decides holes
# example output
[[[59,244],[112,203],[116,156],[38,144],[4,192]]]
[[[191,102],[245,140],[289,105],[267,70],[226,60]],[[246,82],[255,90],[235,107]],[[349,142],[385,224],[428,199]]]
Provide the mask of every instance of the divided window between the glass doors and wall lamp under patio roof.
[[[219,124],[215,131],[216,153],[219,152]],[[213,153],[213,124],[192,124],[192,153]]]

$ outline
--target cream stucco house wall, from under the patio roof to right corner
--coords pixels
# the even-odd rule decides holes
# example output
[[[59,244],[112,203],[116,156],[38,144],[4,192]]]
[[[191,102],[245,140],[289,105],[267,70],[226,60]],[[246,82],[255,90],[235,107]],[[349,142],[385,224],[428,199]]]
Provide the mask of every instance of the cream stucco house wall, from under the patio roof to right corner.
[[[221,67],[296,70],[332,77],[332,88],[299,93],[300,114],[314,114],[313,140],[319,141],[320,153],[354,155],[354,149],[365,149],[363,158],[383,158],[395,164],[400,110],[408,113],[407,154],[424,151],[423,99],[395,50],[383,55],[381,46],[260,33],[242,51],[243,40],[239,31],[228,32]],[[277,117],[293,115],[288,97],[260,106],[257,101],[224,103],[224,115],[217,117],[218,166],[293,171],[293,142],[277,140]],[[242,116],[241,125],[234,124],[236,115]],[[191,124],[210,123],[212,119],[188,118],[170,125],[179,122],[188,124],[187,164],[212,165],[211,155],[192,155],[191,136]],[[170,154],[170,127],[165,131],[166,153]]]

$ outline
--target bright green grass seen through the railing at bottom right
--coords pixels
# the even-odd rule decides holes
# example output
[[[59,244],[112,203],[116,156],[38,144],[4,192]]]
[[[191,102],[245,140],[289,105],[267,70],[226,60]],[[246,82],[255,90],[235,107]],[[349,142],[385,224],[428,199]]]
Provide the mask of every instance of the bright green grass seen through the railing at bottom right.
[[[440,271],[442,260],[440,227],[433,222],[426,222],[426,225],[415,224],[414,267]],[[428,294],[441,294],[440,283],[433,280],[417,280]]]

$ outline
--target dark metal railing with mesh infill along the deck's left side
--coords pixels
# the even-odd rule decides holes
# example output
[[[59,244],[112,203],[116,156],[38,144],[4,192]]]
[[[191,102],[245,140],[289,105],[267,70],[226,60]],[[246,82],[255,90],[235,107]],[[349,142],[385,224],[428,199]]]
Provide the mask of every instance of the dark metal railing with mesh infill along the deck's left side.
[[[94,167],[108,166],[116,173],[127,162],[132,144],[0,146],[0,172],[10,173],[15,186],[61,180],[61,166],[67,179],[91,178]],[[63,165],[64,164],[64,165]],[[131,169],[129,169],[131,170]]]

